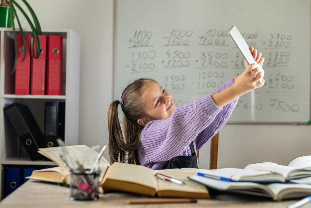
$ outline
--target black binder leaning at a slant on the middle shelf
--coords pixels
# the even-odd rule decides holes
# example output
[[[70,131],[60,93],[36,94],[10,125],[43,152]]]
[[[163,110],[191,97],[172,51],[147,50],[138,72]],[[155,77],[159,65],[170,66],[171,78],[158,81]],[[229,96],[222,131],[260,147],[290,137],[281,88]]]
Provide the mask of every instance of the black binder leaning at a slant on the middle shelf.
[[[42,157],[38,148],[43,147],[44,137],[27,105],[10,104],[3,108],[31,160]]]

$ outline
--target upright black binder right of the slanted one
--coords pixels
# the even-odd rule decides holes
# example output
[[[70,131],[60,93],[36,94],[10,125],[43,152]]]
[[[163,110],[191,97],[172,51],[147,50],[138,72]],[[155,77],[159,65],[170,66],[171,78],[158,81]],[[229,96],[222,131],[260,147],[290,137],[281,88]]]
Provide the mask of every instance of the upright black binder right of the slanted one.
[[[65,141],[65,102],[45,102],[44,146],[59,146],[58,138]]]

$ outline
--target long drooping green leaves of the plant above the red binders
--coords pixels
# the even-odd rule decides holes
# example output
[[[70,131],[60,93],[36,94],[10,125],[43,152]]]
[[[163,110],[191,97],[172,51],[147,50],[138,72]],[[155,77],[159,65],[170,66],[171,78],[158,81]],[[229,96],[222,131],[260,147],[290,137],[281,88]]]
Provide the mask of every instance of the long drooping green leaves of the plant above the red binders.
[[[20,24],[19,17],[18,17],[18,15],[16,13],[16,9],[15,8],[17,8],[22,13],[22,15],[25,17],[25,19],[27,20],[27,22],[28,22],[28,24],[29,24],[29,26],[31,28],[31,31],[32,31],[32,34],[33,34],[33,37],[34,37],[34,41],[37,43],[36,44],[35,58],[38,58],[40,56],[40,41],[39,41],[39,36],[38,35],[41,35],[42,31],[41,31],[41,26],[40,26],[39,20],[38,20],[38,18],[36,16],[35,12],[31,8],[31,6],[29,5],[29,3],[26,0],[20,0],[20,1],[22,1],[22,3],[24,3],[26,5],[29,13],[32,16],[33,21],[29,18],[28,14],[20,6],[20,4],[16,2],[16,0],[1,0],[1,4],[0,4],[0,7],[7,7],[8,8],[6,16],[8,16],[10,18],[10,20],[7,20],[7,21],[11,23],[11,25],[8,24],[8,27],[12,27],[12,30],[13,30],[14,47],[15,47],[15,61],[14,61],[14,67],[13,67],[13,70],[12,70],[11,74],[14,73],[14,71],[15,71],[16,60],[17,60],[17,53],[16,53],[17,52],[16,28],[15,28],[15,23],[14,23],[14,18],[15,17],[16,17],[16,21],[17,21],[17,24],[18,24],[18,27],[19,27],[19,32],[20,32],[21,37],[23,39],[24,51],[27,51],[26,50],[25,34],[24,34],[23,28],[22,28],[22,26]],[[26,57],[26,53],[24,53],[24,58],[22,59],[22,61],[25,59],[25,57]]]

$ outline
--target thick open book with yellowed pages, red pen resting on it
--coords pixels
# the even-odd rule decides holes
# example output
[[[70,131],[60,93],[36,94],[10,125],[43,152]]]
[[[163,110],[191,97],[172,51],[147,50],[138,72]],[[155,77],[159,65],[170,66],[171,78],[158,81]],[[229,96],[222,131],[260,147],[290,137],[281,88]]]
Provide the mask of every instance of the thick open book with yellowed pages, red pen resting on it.
[[[104,190],[116,190],[148,196],[174,198],[203,198],[210,195],[205,186],[189,180],[187,177],[196,174],[197,169],[152,170],[150,168],[127,163],[113,163],[100,182]],[[156,173],[181,180],[185,185],[163,181],[155,177]]]

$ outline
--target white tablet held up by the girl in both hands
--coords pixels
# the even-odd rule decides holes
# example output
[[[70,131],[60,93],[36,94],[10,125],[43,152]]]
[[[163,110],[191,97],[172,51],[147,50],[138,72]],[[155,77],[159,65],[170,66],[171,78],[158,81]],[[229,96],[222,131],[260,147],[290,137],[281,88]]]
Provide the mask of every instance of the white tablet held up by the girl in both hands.
[[[262,73],[262,79],[259,80],[259,82],[261,83],[263,80],[263,75],[264,75],[264,70],[263,68],[257,64],[256,60],[254,59],[254,57],[252,56],[249,47],[246,43],[246,41],[244,40],[243,36],[241,35],[241,33],[237,30],[236,26],[233,25],[231,27],[231,29],[229,30],[228,34],[230,35],[230,37],[233,39],[235,45],[237,46],[237,48],[240,50],[240,52],[242,53],[242,55],[244,56],[245,60],[247,61],[248,64],[256,64],[255,67],[259,69],[259,71]]]

